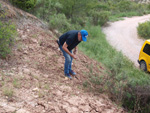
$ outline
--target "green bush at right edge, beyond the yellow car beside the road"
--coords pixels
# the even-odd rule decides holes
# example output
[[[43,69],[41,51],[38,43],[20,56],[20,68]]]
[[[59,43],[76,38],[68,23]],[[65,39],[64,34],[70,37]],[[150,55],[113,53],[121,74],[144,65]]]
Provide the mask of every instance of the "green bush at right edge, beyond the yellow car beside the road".
[[[137,30],[138,30],[138,35],[140,37],[149,39],[150,38],[150,21],[139,24]]]

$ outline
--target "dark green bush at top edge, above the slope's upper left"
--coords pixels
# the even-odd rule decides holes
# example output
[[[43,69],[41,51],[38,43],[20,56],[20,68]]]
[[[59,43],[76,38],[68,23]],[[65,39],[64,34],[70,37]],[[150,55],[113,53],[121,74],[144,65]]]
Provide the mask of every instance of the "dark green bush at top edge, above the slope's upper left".
[[[32,9],[35,7],[37,0],[10,0],[14,5],[21,9]]]

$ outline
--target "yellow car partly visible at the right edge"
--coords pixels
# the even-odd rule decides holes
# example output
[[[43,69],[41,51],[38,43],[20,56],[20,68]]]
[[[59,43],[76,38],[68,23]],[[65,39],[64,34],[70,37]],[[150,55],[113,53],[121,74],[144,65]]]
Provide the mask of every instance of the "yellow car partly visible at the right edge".
[[[144,42],[139,54],[138,63],[143,71],[150,72],[150,39]]]

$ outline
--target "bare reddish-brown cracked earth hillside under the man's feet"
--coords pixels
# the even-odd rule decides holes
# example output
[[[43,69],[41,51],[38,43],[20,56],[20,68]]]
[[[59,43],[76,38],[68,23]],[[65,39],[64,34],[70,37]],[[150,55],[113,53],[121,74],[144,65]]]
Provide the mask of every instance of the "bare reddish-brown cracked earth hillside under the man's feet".
[[[64,58],[55,34],[31,14],[0,1],[13,19],[18,36],[12,54],[0,59],[1,113],[123,113],[104,94],[83,89],[92,73],[105,74],[98,62],[79,52],[73,69],[77,78],[63,75]]]

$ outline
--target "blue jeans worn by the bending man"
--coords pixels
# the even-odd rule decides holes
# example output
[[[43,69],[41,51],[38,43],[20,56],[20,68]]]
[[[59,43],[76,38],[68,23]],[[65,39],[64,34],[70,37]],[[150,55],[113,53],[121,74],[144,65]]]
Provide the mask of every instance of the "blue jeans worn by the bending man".
[[[63,52],[63,55],[65,57],[64,74],[67,74],[67,73],[69,73],[69,71],[72,70],[72,60],[73,60],[73,58],[63,50],[61,45],[59,46],[59,48]],[[70,52],[72,53],[72,50]]]

